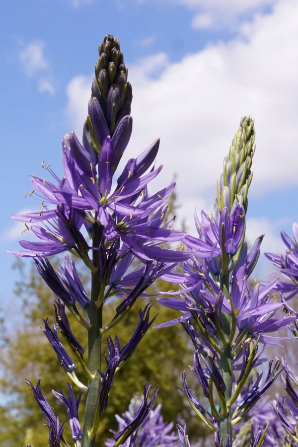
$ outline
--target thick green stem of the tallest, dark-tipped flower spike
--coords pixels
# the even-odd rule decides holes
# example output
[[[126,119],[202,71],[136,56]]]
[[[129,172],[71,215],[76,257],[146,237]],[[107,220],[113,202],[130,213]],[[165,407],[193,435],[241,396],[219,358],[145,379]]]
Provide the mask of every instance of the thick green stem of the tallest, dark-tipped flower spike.
[[[93,247],[98,247],[100,242],[102,228],[100,224],[95,222],[93,225],[92,243]],[[96,307],[96,301],[100,292],[99,283],[99,256],[98,251],[93,250],[92,264],[96,268],[96,271],[92,272],[92,283],[91,283],[91,304],[90,304],[90,329],[88,331],[88,370],[94,376],[94,379],[89,382],[87,400],[85,407],[84,416],[84,427],[83,427],[83,447],[94,447],[95,446],[95,436],[93,439],[89,439],[89,434],[93,426],[98,391],[100,385],[100,375],[97,370],[100,369],[101,360],[101,332],[102,327],[102,306]]]

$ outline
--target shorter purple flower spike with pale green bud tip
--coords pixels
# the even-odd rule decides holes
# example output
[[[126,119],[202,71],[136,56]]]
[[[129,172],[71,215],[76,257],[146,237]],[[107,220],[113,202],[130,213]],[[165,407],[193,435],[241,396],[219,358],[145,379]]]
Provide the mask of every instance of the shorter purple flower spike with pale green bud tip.
[[[209,401],[208,408],[190,390],[186,373],[182,374],[182,392],[198,418],[215,432],[218,446],[232,444],[233,427],[246,419],[282,372],[281,361],[271,361],[265,373],[267,359],[262,353],[265,343],[277,344],[277,337],[269,334],[296,319],[290,312],[281,315],[286,310],[284,302],[277,301],[272,293],[278,280],[252,285],[249,279],[263,239],[260,235],[248,252],[245,215],[254,136],[253,121],[242,119],[224,159],[212,214],[202,212],[201,220],[196,216],[198,237],[183,239],[194,256],[163,276],[180,284],[180,291],[158,298],[163,305],[180,311],[180,316],[159,327],[182,324],[194,345],[191,372]],[[261,365],[263,372],[249,381],[253,370]],[[261,446],[267,430],[254,430],[251,445]]]

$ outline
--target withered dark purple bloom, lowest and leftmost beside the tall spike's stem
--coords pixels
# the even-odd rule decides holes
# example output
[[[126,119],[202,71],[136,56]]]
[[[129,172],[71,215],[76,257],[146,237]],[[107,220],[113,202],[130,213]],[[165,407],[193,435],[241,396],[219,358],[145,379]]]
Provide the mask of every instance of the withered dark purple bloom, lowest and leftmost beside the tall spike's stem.
[[[64,441],[62,436],[63,428],[59,422],[59,416],[55,416],[49,402],[41,392],[40,377],[38,378],[36,387],[30,380],[25,380],[25,382],[31,386],[35,400],[48,422],[50,447],[60,447],[60,440]]]

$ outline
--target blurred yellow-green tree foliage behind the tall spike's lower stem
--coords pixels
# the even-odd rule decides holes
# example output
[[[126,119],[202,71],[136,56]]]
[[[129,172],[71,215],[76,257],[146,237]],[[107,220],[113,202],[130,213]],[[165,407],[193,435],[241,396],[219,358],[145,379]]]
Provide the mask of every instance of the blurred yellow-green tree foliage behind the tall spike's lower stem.
[[[46,420],[41,413],[33,393],[24,383],[25,378],[36,385],[37,378],[41,376],[41,388],[49,400],[55,413],[59,412],[60,420],[67,420],[64,407],[52,395],[52,389],[62,390],[66,393],[66,383],[69,381],[66,373],[59,365],[56,354],[40,330],[42,319],[54,315],[53,299],[55,298],[49,288],[44,284],[31,264],[28,271],[28,260],[17,259],[16,270],[20,281],[16,283],[15,294],[21,300],[22,306],[14,309],[19,313],[19,325],[14,328],[11,335],[2,338],[2,373],[0,377],[1,405],[0,405],[0,446],[15,447],[31,444],[32,446],[48,446],[48,429],[44,426]],[[86,278],[85,278],[86,280]],[[85,284],[87,284],[85,282]],[[87,286],[86,286],[87,287]],[[173,285],[157,281],[151,292],[172,289]],[[110,335],[117,334],[121,346],[131,337],[137,323],[139,308],[144,308],[148,299],[139,298],[129,312],[127,318]],[[151,317],[158,313],[153,325],[175,318],[176,312],[160,306],[155,298],[151,298]],[[106,305],[105,313],[108,317],[114,315],[117,300],[111,300]],[[12,309],[13,311],[13,309]],[[85,329],[69,315],[70,322],[77,339],[86,348],[87,337]],[[104,345],[104,343],[103,343]],[[66,344],[65,344],[66,346]],[[67,347],[67,346],[66,346]],[[104,348],[104,346],[103,346]],[[71,351],[70,351],[70,354]],[[74,358],[74,356],[72,356]],[[74,358],[75,361],[75,358]],[[131,397],[142,394],[143,383],[152,383],[158,387],[158,401],[162,402],[162,415],[166,422],[187,421],[191,434],[198,439],[198,420],[194,418],[186,399],[176,388],[181,386],[181,372],[188,369],[192,363],[192,347],[181,326],[175,325],[166,329],[149,329],[137,347],[133,357],[116,374],[114,385],[109,396],[109,407],[101,423],[101,436],[98,437],[98,446],[104,446],[109,437],[109,429],[116,429],[115,414],[126,411]],[[76,373],[84,382],[85,379]],[[191,376],[191,374],[189,374]],[[191,380],[190,380],[191,382]],[[196,388],[198,386],[196,385]],[[75,386],[74,386],[75,389]],[[83,410],[84,396],[80,409]],[[81,421],[83,414],[79,415]],[[68,423],[65,424],[66,439],[70,439]],[[204,436],[204,428],[200,428],[200,436]]]

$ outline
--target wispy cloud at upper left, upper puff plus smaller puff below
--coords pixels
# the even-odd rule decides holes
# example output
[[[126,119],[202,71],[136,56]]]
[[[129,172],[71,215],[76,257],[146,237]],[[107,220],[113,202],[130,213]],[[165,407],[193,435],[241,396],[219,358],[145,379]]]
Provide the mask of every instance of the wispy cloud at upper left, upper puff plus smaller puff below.
[[[38,91],[55,93],[55,87],[51,81],[51,67],[45,56],[45,43],[36,40],[25,44],[20,42],[18,60],[21,68],[28,78],[37,79]]]

